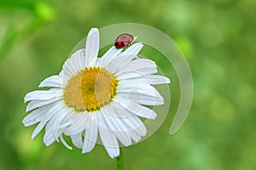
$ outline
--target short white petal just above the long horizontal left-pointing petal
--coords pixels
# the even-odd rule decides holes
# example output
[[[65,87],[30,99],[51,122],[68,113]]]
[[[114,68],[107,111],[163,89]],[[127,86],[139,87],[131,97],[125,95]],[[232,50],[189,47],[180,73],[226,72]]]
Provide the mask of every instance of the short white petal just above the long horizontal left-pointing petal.
[[[43,82],[40,83],[39,88],[49,87],[49,88],[63,88],[62,79],[59,75],[54,75],[47,77]]]

